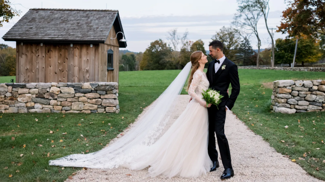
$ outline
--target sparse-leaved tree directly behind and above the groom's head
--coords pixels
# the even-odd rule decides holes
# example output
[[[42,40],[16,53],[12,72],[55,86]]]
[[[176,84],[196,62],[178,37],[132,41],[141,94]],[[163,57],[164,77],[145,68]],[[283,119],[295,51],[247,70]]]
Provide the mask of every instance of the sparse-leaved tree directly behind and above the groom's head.
[[[237,30],[232,27],[223,26],[211,39],[213,41],[219,40],[223,43],[223,53],[228,59],[232,60],[236,58],[237,49],[240,44],[240,34]]]

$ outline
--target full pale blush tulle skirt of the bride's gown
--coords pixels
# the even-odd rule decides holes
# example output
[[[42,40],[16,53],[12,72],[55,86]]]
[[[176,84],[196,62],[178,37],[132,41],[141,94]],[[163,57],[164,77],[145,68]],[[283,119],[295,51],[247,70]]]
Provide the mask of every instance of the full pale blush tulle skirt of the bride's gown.
[[[194,178],[212,167],[207,145],[208,110],[192,100],[161,138],[151,146],[142,146],[132,160],[121,166],[132,170],[150,166],[152,177]]]

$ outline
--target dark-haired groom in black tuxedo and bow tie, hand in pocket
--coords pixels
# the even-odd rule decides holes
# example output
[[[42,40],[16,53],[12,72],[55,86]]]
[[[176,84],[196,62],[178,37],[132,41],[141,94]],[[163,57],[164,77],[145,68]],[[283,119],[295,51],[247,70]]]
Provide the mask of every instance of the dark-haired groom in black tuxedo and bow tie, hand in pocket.
[[[209,112],[209,142],[208,153],[213,162],[211,171],[215,171],[219,167],[218,152],[215,147],[215,137],[217,136],[220,156],[222,164],[225,168],[221,179],[227,179],[234,176],[234,170],[231,165],[230,150],[228,140],[225,135],[225,120],[226,111],[231,110],[239,95],[240,84],[238,77],[237,65],[231,62],[223,54],[223,44],[220,41],[212,41],[209,44],[209,51],[213,61],[208,65],[206,76],[210,82],[210,88],[215,91],[220,91],[224,97],[221,103],[217,106],[212,105],[208,108]],[[227,94],[229,84],[232,86],[230,97]]]

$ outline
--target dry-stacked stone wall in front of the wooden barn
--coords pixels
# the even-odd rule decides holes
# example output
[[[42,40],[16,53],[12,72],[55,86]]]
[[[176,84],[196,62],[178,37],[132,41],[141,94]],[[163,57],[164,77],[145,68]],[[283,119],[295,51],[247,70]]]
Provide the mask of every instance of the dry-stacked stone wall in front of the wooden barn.
[[[0,113],[119,113],[118,83],[0,84]]]

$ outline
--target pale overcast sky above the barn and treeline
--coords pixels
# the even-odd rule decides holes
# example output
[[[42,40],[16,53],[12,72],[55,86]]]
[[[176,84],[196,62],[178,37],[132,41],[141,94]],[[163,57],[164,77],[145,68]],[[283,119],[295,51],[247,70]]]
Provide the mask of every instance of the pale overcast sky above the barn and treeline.
[[[24,15],[30,8],[67,8],[67,9],[116,9],[119,10],[127,48],[133,52],[143,52],[150,42],[157,39],[166,41],[167,31],[177,28],[181,36],[188,30],[188,38],[192,41],[202,39],[208,50],[212,35],[223,26],[230,26],[236,13],[236,0],[12,0],[16,8]],[[43,2],[43,5],[42,5]],[[286,4],[283,0],[270,0],[268,18],[269,28],[280,24],[282,11]],[[20,17],[15,17],[10,23],[4,23],[0,28],[2,37]],[[267,33],[264,19],[258,24],[261,36],[261,48],[270,47],[271,39]],[[274,38],[284,38],[286,35],[275,33]],[[1,39],[0,43],[16,47],[15,42]],[[256,38],[251,36],[254,49],[257,48]]]

